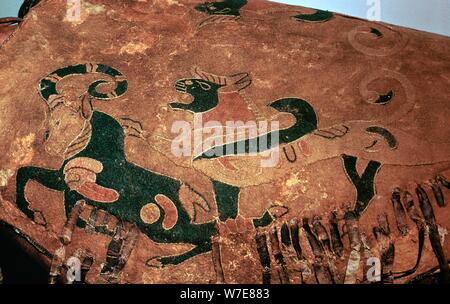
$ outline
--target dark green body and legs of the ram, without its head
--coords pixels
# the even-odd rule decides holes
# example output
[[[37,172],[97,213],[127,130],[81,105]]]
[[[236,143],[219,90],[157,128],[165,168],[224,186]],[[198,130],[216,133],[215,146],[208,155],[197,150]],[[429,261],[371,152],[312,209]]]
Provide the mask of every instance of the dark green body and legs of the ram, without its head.
[[[92,137],[87,147],[78,154],[66,159],[62,167],[58,170],[49,170],[38,167],[23,167],[17,173],[17,205],[29,217],[33,218],[33,212],[28,209],[28,202],[25,198],[25,186],[28,181],[35,180],[47,188],[64,192],[64,207],[68,215],[78,200],[84,199],[99,209],[103,209],[117,218],[134,223],[138,228],[155,242],[160,243],[189,243],[197,247],[184,255],[177,257],[162,258],[163,264],[178,264],[185,259],[207,252],[211,249],[211,236],[216,233],[216,222],[211,221],[205,224],[192,224],[186,210],[179,200],[179,190],[181,182],[158,173],[146,170],[134,165],[126,160],[124,154],[124,133],[122,126],[111,116],[101,112],[94,112],[91,119]],[[107,130],[107,131],[106,131]],[[104,203],[83,196],[77,191],[71,190],[64,177],[64,168],[67,163],[77,158],[90,158],[102,163],[103,170],[97,174],[97,183],[103,187],[114,189],[118,192],[118,199],[114,202]],[[232,186],[216,184],[216,189],[221,189],[223,195],[231,196],[228,201],[236,204],[238,191]],[[233,192],[235,194],[233,194]],[[176,206],[176,224],[170,229],[164,229],[162,222],[164,212],[160,208],[161,217],[152,224],[145,223],[140,217],[141,209],[149,204],[155,203],[155,197],[163,194],[168,197]],[[221,199],[218,199],[218,203]],[[233,209],[233,206],[228,208]],[[227,207],[220,207],[226,210]],[[221,214],[221,220],[226,220],[228,216],[236,216],[237,212]],[[267,225],[271,222],[271,216],[266,213],[263,221],[257,225]]]

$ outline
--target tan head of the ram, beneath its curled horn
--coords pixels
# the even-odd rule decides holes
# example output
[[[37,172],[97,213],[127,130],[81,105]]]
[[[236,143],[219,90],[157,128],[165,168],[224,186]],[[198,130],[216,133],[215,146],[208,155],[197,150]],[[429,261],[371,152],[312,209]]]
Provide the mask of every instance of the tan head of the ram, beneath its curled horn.
[[[77,139],[87,129],[91,116],[92,104],[89,97],[83,98],[82,105],[78,109],[63,103],[52,108],[44,136],[47,153],[66,158],[71,147],[77,144]]]

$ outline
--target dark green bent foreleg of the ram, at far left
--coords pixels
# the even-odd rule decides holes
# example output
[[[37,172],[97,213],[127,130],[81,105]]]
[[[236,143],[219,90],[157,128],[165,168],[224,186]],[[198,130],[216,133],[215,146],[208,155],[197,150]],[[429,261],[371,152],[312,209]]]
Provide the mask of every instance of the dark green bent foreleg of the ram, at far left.
[[[35,180],[43,186],[57,191],[63,191],[65,189],[65,183],[58,170],[49,170],[38,167],[22,167],[17,170],[17,207],[25,213],[26,216],[34,220],[34,211],[29,208],[29,202],[25,197],[25,187],[29,180]]]

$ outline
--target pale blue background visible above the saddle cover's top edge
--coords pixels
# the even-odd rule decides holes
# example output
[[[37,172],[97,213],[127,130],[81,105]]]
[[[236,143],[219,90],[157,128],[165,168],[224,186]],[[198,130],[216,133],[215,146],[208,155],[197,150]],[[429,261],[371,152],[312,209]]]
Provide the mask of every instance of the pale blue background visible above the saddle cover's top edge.
[[[111,0],[116,1],[116,0]],[[212,1],[212,0],[209,0]],[[380,0],[381,20],[450,36],[450,0]],[[368,0],[277,0],[367,18]],[[22,0],[0,0],[0,17],[16,16]]]

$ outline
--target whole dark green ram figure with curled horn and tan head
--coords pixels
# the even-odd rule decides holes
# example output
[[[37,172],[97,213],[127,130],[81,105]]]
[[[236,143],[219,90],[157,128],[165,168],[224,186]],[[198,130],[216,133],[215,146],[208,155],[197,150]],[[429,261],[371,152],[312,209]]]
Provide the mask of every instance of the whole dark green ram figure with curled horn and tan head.
[[[57,82],[67,76],[101,73],[109,80],[95,81],[79,106],[65,104],[57,91]],[[99,93],[100,83],[115,83],[109,93]],[[112,116],[93,110],[92,98],[108,100],[125,93],[127,81],[117,70],[106,65],[82,64],[61,68],[45,77],[40,94],[50,109],[46,150],[64,157],[59,169],[19,168],[16,177],[16,203],[29,218],[25,187],[31,180],[64,193],[68,215],[75,203],[88,204],[107,211],[118,219],[135,224],[150,239],[159,243],[188,243],[195,247],[178,256],[159,258],[160,265],[179,264],[195,255],[211,250],[211,236],[217,233],[216,220],[193,224],[179,199],[182,182],[139,167],[126,158],[125,133]],[[240,189],[213,181],[219,219],[238,216]],[[273,216],[266,211],[254,219],[255,226],[265,226]]]

